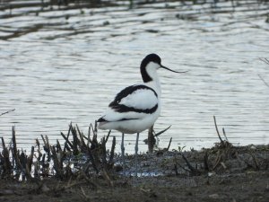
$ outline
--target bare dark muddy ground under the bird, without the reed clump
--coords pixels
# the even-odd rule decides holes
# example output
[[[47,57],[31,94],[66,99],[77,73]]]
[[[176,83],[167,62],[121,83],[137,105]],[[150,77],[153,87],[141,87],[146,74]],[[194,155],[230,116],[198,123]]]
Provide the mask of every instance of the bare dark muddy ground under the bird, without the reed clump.
[[[140,154],[138,178],[133,162],[126,157],[126,175],[115,165],[68,180],[2,179],[0,201],[269,201],[269,145]]]

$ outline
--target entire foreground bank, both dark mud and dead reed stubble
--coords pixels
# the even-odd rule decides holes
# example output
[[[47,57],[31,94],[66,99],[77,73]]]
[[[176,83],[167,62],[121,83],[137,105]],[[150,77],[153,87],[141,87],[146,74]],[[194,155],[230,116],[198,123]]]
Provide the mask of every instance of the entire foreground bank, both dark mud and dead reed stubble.
[[[44,152],[34,147],[23,154],[13,143],[0,155],[1,201],[268,201],[269,145],[233,146],[221,139],[199,151],[160,149],[126,155],[125,175],[120,154],[111,149],[108,136],[97,140],[70,125],[65,146],[49,145]],[[73,137],[73,138],[72,138]],[[14,151],[17,151],[15,153]],[[42,154],[43,152],[43,154]]]

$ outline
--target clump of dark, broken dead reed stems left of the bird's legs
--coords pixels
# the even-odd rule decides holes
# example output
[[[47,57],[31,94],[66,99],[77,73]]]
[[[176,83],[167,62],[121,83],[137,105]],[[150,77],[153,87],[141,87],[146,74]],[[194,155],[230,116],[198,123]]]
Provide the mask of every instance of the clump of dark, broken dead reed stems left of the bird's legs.
[[[36,139],[35,146],[31,146],[30,154],[20,152],[17,147],[15,127],[12,128],[12,145],[6,146],[2,137],[3,150],[0,153],[0,177],[12,178],[16,180],[41,180],[49,176],[54,176],[61,180],[69,179],[72,176],[84,173],[91,176],[100,171],[106,171],[107,175],[113,170],[116,137],[113,136],[110,152],[107,151],[108,136],[97,139],[97,129],[91,127],[93,136],[88,138],[76,125],[69,125],[67,136],[61,135],[65,139],[64,148],[58,140],[56,145],[50,145],[48,136],[41,135],[43,140],[43,151],[40,148],[39,139]],[[69,137],[73,137],[73,141]],[[87,143],[86,141],[87,140]],[[85,169],[85,163],[74,164],[72,159],[80,159],[85,156],[89,163]],[[82,161],[82,160],[79,160]],[[75,168],[73,169],[72,166]]]

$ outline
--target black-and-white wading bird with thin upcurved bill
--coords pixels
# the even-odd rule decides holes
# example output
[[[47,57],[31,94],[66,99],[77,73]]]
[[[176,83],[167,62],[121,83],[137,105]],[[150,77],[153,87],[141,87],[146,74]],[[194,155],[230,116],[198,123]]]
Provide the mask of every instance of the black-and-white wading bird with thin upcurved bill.
[[[137,176],[137,152],[139,134],[153,126],[161,114],[161,83],[158,69],[178,72],[161,65],[161,57],[152,53],[143,58],[140,73],[143,83],[127,86],[118,92],[108,109],[97,120],[98,128],[114,129],[122,133],[122,162],[124,160],[124,135],[135,134],[135,176]],[[123,166],[124,168],[124,166]]]

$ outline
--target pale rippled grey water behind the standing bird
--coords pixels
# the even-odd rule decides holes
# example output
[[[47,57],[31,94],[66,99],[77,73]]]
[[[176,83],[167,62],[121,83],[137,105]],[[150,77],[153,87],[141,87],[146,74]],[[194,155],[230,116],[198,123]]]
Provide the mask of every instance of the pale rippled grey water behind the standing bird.
[[[0,113],[15,109],[0,117],[0,136],[9,139],[15,125],[19,147],[28,148],[41,134],[51,143],[62,139],[71,121],[87,133],[119,90],[141,82],[140,62],[154,52],[164,66],[189,70],[160,70],[155,130],[172,125],[161,147],[170,137],[174,149],[212,146],[213,115],[231,143],[269,143],[269,88],[259,77],[269,83],[269,66],[259,60],[269,57],[269,4],[117,4],[43,12],[29,6],[10,17],[9,9],[0,11]],[[111,135],[119,144],[121,134]],[[126,135],[127,153],[134,138]]]

